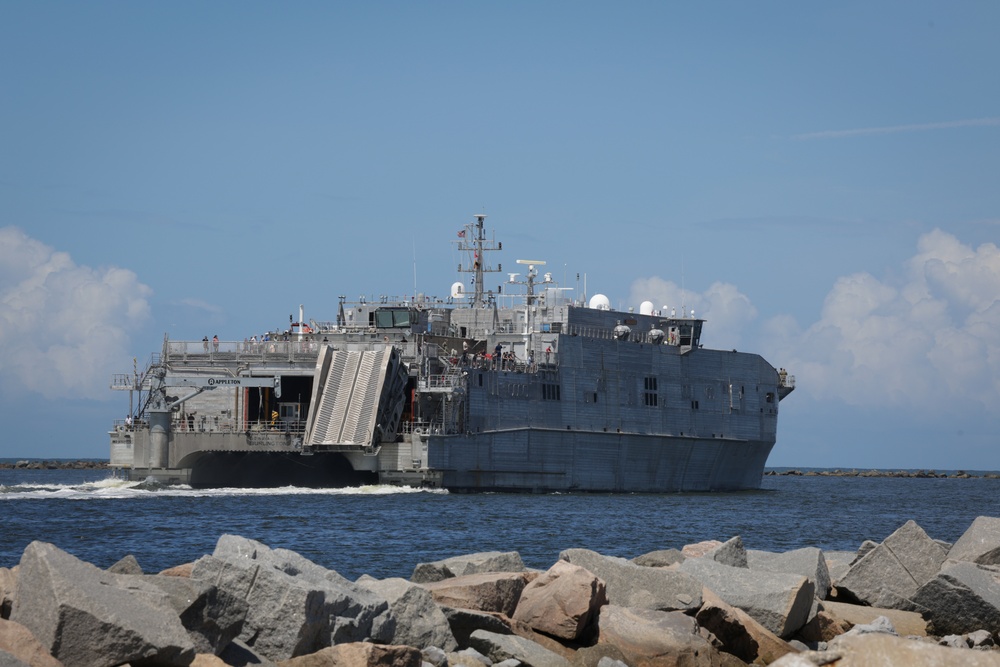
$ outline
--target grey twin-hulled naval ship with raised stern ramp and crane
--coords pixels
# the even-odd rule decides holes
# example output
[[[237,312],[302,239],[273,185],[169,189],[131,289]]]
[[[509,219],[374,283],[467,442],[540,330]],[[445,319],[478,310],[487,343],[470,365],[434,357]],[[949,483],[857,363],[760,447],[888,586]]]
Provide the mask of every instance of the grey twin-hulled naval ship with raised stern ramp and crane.
[[[452,491],[759,488],[794,377],[705,349],[704,320],[567,297],[540,260],[494,291],[475,216],[446,299],[339,297],[332,321],[174,341],[115,376],[111,466],[194,487],[396,484]],[[492,283],[492,280],[490,281]]]

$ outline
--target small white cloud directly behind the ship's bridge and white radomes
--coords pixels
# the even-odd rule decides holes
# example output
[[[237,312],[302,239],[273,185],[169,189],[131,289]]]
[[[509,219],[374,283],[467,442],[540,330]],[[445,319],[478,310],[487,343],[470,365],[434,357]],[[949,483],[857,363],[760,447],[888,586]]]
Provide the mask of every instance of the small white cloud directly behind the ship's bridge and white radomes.
[[[723,282],[713,283],[704,292],[692,292],[656,276],[642,278],[632,283],[629,299],[630,303],[652,301],[653,307],[664,314],[694,310],[697,317],[712,322],[702,342],[722,349],[738,348],[741,332],[757,317],[750,299],[735,285]]]

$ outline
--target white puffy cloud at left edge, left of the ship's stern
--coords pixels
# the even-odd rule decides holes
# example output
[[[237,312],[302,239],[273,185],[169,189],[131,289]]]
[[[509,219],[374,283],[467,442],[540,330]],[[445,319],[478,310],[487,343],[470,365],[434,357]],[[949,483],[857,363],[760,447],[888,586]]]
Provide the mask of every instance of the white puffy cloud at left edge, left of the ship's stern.
[[[149,318],[151,290],[128,270],[78,266],[0,228],[0,382],[46,398],[102,397]]]

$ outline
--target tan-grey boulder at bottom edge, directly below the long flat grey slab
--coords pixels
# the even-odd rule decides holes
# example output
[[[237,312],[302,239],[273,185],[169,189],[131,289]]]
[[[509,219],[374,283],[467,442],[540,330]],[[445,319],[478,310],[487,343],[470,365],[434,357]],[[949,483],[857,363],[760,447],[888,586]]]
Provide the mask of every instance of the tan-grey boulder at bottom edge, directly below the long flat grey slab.
[[[718,665],[719,652],[698,633],[693,618],[679,611],[601,607],[598,645],[609,644],[632,667]]]

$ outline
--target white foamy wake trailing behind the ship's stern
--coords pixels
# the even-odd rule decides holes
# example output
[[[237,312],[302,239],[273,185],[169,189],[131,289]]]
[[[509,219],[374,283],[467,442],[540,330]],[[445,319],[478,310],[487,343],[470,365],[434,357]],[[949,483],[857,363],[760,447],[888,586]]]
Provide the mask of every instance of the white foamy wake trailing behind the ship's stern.
[[[300,486],[277,488],[218,488],[193,489],[184,484],[165,485],[152,479],[129,482],[116,477],[79,484],[14,484],[0,485],[0,501],[4,500],[106,500],[119,498],[221,498],[235,496],[382,496],[408,493],[447,494],[445,489],[421,489],[388,484],[372,484],[336,489],[315,489]]]

